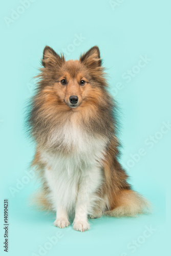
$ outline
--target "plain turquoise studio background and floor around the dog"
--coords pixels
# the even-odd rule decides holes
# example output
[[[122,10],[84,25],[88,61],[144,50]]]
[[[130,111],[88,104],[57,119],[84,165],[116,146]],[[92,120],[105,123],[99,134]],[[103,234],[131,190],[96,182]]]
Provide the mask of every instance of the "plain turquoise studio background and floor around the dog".
[[[163,122],[171,122],[170,2],[116,0],[113,8],[109,1],[96,0],[29,3],[26,9],[20,8],[19,1],[10,0],[3,2],[1,8],[1,255],[6,255],[6,198],[10,256],[165,254],[165,190],[170,171],[171,131],[170,127],[162,130],[164,133],[160,130]],[[14,14],[12,9],[20,14]],[[8,19],[12,13],[13,21]],[[82,39],[78,41],[75,38],[80,34]],[[33,94],[32,77],[38,73],[46,45],[57,52],[68,49],[67,59],[76,59],[92,46],[99,46],[110,76],[110,90],[120,107],[121,163],[127,166],[133,187],[153,203],[152,215],[90,220],[91,229],[81,233],[72,228],[57,229],[53,226],[53,214],[29,207],[27,199],[37,185],[25,173],[34,146],[24,133],[24,108]],[[140,56],[145,55],[148,63],[143,68],[135,67]],[[125,79],[129,70],[133,70],[134,77]],[[149,144],[150,136],[157,138],[153,144]],[[135,155],[138,152],[143,152],[143,156]],[[18,180],[25,184],[20,184],[20,190],[12,196],[11,189],[16,189]],[[146,227],[153,230],[144,237]],[[57,231],[56,244],[48,244],[48,237],[55,236]],[[134,240],[137,245],[132,247]],[[39,253],[40,245],[48,250]]]

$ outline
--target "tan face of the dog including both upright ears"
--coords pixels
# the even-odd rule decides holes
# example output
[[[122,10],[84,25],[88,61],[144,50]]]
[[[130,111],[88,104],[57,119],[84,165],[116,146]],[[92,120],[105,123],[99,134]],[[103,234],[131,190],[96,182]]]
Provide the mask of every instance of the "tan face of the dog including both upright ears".
[[[47,46],[42,65],[41,83],[44,87],[51,87],[63,109],[66,106],[66,109],[74,110],[93,103],[94,90],[97,96],[98,88],[104,83],[100,52],[96,46],[81,55],[79,60],[68,61]]]

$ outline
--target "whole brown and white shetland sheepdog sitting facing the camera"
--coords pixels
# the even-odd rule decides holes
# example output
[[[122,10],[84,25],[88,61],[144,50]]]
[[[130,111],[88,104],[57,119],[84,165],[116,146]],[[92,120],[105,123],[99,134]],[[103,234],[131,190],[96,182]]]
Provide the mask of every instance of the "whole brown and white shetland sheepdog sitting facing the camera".
[[[54,225],[90,228],[89,218],[136,216],[148,201],[127,182],[119,163],[116,105],[97,46],[65,60],[46,46],[30,102],[32,166],[41,181],[37,200],[56,212]]]

